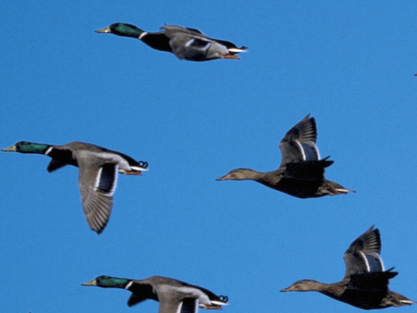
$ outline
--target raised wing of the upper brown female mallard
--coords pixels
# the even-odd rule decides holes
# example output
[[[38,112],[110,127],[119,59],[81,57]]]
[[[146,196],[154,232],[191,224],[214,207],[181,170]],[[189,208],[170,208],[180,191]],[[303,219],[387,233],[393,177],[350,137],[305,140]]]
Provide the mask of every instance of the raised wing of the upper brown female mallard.
[[[319,160],[316,120],[308,114],[280,142],[281,166],[291,162]]]

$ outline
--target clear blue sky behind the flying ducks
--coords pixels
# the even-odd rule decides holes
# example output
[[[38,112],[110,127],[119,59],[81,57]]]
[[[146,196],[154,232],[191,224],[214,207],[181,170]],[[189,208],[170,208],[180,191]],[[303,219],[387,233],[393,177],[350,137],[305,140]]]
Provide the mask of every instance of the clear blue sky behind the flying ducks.
[[[1,152],[2,312],[156,312],[100,274],[166,275],[229,296],[226,313],[355,312],[302,278],[340,280],[343,253],[372,224],[391,289],[417,299],[417,4],[413,1],[5,1],[0,17],[1,147],[80,140],[147,160],[120,175],[107,228],[84,218],[78,170]],[[94,33],[164,23],[247,45],[241,60],[180,61]],[[236,167],[272,170],[278,143],[317,120],[329,179],[356,194],[298,199]],[[390,309],[392,310],[392,309]],[[415,311],[404,307],[402,311]]]

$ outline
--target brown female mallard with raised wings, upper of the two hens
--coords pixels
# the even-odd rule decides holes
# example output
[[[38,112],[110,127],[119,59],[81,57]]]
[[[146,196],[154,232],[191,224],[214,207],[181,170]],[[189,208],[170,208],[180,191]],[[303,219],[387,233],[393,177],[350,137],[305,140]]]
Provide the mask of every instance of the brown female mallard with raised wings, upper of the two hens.
[[[325,167],[333,164],[333,161],[328,159],[329,156],[320,158],[316,140],[316,120],[308,114],[281,140],[282,157],[278,169],[259,172],[250,168],[236,168],[216,180],[255,180],[299,198],[352,192],[324,177]]]

